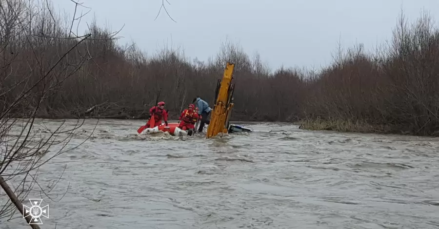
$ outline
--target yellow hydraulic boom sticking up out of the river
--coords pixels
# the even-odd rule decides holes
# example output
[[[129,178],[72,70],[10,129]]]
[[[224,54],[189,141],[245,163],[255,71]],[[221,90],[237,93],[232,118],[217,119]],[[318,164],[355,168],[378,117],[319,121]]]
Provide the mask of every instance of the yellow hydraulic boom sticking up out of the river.
[[[224,76],[217,86],[215,106],[213,107],[210,124],[207,126],[207,138],[214,137],[219,133],[228,132],[230,115],[235,105],[232,102],[235,90],[235,85],[232,84],[234,67],[234,63],[227,62]]]

